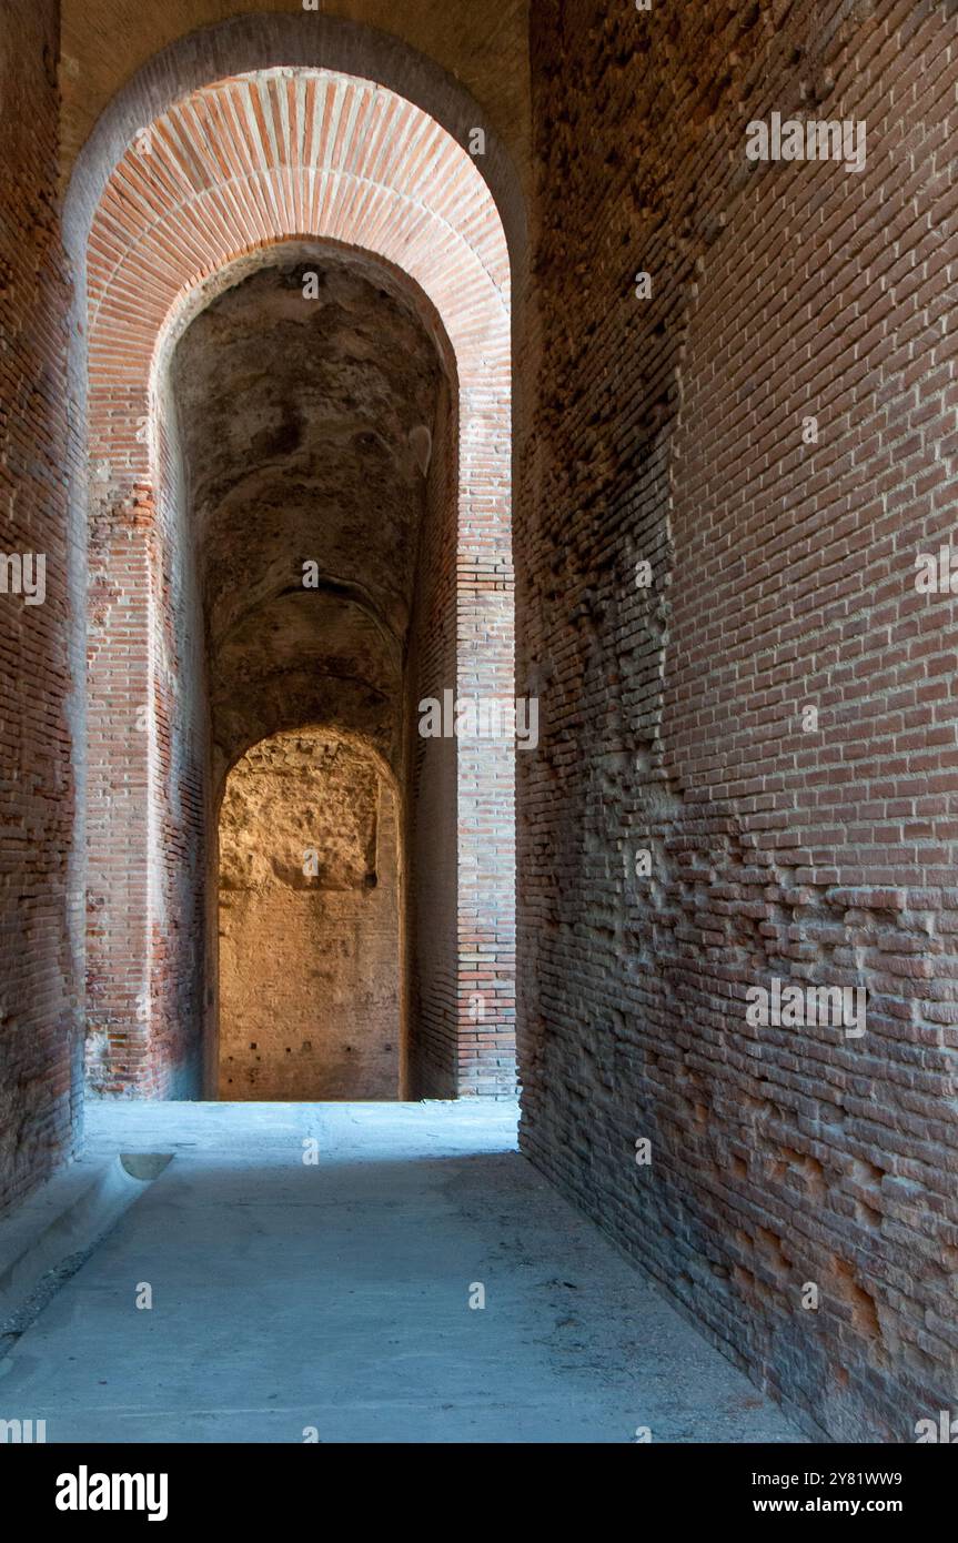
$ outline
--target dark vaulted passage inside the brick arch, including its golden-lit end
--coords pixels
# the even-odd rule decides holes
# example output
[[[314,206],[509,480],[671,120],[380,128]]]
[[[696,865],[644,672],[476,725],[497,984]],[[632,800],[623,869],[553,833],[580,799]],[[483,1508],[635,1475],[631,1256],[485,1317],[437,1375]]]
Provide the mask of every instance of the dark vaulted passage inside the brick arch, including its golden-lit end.
[[[233,767],[234,781],[238,758],[244,765],[250,745],[318,722],[326,728],[315,733],[332,733],[335,744],[363,738],[367,759],[378,756],[392,779],[383,799],[395,792],[395,809],[379,812],[378,795],[373,799],[363,779],[344,785],[342,778],[319,778],[310,802],[304,793],[309,765],[299,778],[285,765],[273,767],[262,798],[276,812],[276,829],[285,832],[282,852],[264,866],[256,849],[273,852],[275,832],[261,822],[244,847],[234,818],[227,833],[244,849],[242,867],[253,878],[245,898],[227,900],[225,907],[224,884],[228,890],[238,884],[224,876],[222,844],[216,863],[213,833],[207,836],[194,822],[191,846],[210,847],[205,898],[201,870],[184,875],[174,859],[171,876],[179,880],[180,912],[194,918],[191,930],[201,934],[205,921],[207,950],[202,961],[184,949],[170,960],[187,1001],[180,1021],[194,1025],[188,1003],[202,995],[202,969],[207,1088],[224,1097],[242,1089],[290,1097],[298,1089],[299,1097],[316,1099],[321,1092],[332,1097],[336,1088],[341,1097],[372,1097],[373,1091],[396,1097],[400,1080],[406,1089],[410,1077],[403,1052],[400,1079],[395,1025],[407,1018],[415,1025],[421,1014],[420,983],[430,967],[423,950],[433,949],[443,929],[444,950],[455,950],[447,926],[455,904],[447,915],[443,904],[446,875],[455,878],[455,839],[438,839],[426,809],[424,765],[412,747],[406,690],[415,687],[418,697],[429,687],[421,687],[417,663],[427,619],[437,614],[452,636],[447,596],[430,579],[441,565],[424,554],[455,551],[446,464],[455,449],[455,373],[447,373],[454,361],[443,336],[433,339],[427,329],[433,318],[421,313],[421,295],[379,259],[339,244],[264,248],[255,262],[244,259],[219,273],[213,290],[205,310],[193,315],[191,309],[190,324],[177,329],[179,341],[165,350],[168,366],[159,372],[167,461],[185,489],[171,508],[170,546],[190,569],[187,586],[202,613],[194,759],[218,801],[227,768]],[[339,756],[339,765],[347,759]],[[455,767],[447,756],[440,759],[440,792],[455,807],[449,776]],[[290,809],[282,807],[284,792]],[[352,903],[335,904],[329,892],[353,886],[341,883],[342,864],[330,850],[338,836],[327,799],[344,829],[358,822],[367,841],[392,819],[404,827],[395,833],[396,849],[400,839],[415,846],[421,835],[409,887],[400,886],[396,872],[389,900],[389,886],[376,884],[370,893],[363,881]],[[255,813],[261,802],[256,795],[236,807]],[[222,836],[222,812],[219,830]],[[236,878],[234,863],[231,869]],[[304,876],[309,883],[301,883]],[[437,893],[443,901],[437,903]],[[282,940],[275,938],[275,910],[288,923]],[[383,935],[393,910],[410,940],[401,961]],[[230,934],[227,926],[238,913],[239,940],[236,927]],[[410,923],[407,913],[421,915],[423,924]],[[258,943],[253,921],[262,930]],[[224,949],[227,974],[218,984]],[[349,966],[332,967],[336,950]],[[244,952],[250,955],[245,963]],[[272,972],[270,961],[281,958],[284,971]],[[302,981],[313,977],[333,986],[336,1032],[321,1035],[310,1028],[324,1015],[322,1003],[302,1000]],[[350,986],[356,1000],[344,1008]],[[393,1072],[387,1077],[379,1068],[378,1080],[370,1080],[359,1072],[361,1052],[376,1038],[376,1025],[390,1017],[395,1023],[386,1038],[378,1037],[392,1045]],[[255,1032],[238,1037],[242,1023],[253,1023]],[[307,1028],[299,1032],[296,1025]],[[224,1034],[233,1035],[225,1051],[233,1058],[231,1085],[228,1077],[224,1082]],[[275,1037],[292,1057],[282,1072],[265,1058]],[[287,1040],[298,1040],[296,1054]],[[330,1069],[336,1046],[342,1075]]]

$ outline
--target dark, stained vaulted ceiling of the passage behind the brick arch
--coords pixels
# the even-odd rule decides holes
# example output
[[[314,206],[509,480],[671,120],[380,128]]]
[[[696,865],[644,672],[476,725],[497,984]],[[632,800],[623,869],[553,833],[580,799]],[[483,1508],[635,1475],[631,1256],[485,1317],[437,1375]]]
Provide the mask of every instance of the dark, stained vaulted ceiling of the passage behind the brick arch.
[[[301,255],[219,295],[173,393],[219,775],[309,722],[395,755],[441,364],[361,255]]]

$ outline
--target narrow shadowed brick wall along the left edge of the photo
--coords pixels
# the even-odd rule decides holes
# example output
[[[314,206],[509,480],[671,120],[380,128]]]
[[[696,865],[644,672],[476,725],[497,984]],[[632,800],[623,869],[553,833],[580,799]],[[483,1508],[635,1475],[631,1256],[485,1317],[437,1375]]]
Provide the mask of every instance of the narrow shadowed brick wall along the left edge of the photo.
[[[0,19],[0,546],[46,599],[0,594],[0,1208],[73,1150],[80,1116],[82,545],[57,227],[59,6]]]

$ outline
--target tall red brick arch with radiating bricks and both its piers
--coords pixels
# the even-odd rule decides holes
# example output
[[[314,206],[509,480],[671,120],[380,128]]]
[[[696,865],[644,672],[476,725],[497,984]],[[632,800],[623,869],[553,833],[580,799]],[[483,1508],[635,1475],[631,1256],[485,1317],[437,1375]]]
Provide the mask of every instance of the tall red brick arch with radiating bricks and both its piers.
[[[295,239],[375,255],[406,273],[441,321],[458,376],[447,684],[461,694],[514,690],[509,256],[474,160],[396,93],[304,66],[205,85],[140,122],[105,181],[86,247],[88,1012],[110,1091],[199,1088],[194,1065],[176,1066],[184,995],[168,961],[184,940],[173,937],[177,889],[160,853],[184,844],[208,793],[176,748],[184,639],[171,626],[164,545],[177,491],[157,370],[218,273]],[[424,1003],[430,1052],[415,1088],[440,1096],[509,1091],[514,1080],[509,747],[460,744],[455,801],[458,941]]]

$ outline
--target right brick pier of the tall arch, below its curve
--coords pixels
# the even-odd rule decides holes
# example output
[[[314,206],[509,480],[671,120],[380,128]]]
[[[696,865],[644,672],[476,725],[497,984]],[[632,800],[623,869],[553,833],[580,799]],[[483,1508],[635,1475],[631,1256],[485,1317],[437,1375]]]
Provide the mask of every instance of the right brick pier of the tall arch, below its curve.
[[[410,1097],[515,1097],[515,750],[418,731],[418,704],[444,691],[514,696],[508,386],[491,406],[495,437],[483,430],[474,452],[443,401],[420,545],[406,707]]]

